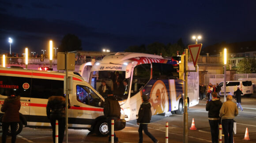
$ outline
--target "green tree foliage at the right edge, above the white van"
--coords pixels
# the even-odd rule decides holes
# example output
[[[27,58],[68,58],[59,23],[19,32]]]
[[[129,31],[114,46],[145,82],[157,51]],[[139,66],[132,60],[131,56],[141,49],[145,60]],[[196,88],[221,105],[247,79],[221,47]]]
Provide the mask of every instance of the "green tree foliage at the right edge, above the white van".
[[[245,57],[237,64],[237,73],[250,74],[256,73],[256,59]]]

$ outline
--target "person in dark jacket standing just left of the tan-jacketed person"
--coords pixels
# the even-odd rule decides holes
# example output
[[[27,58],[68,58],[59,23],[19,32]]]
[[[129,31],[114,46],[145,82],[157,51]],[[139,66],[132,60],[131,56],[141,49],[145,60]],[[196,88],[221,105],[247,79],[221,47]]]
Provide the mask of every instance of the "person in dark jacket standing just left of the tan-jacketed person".
[[[212,93],[212,100],[206,104],[206,111],[208,111],[208,120],[211,128],[211,142],[218,143],[218,125],[220,123],[219,111],[222,106],[222,102],[217,98],[216,92]]]

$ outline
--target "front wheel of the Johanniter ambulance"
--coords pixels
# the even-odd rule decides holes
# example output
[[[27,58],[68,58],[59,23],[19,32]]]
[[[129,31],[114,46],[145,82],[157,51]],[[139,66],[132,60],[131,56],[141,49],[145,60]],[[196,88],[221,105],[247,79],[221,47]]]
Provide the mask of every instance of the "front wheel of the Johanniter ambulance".
[[[95,126],[95,132],[98,136],[108,136],[109,128],[106,120],[100,120]]]

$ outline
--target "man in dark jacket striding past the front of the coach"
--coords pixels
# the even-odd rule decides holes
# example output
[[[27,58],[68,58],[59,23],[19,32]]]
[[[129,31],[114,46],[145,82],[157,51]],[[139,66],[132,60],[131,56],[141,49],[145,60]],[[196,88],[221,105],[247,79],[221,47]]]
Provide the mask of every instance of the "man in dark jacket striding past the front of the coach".
[[[147,95],[142,95],[143,103],[139,107],[137,124],[139,125],[139,143],[143,143],[143,134],[144,133],[151,138],[154,143],[158,143],[158,140],[151,135],[147,130],[147,124],[150,123],[151,120],[151,104],[148,102]]]

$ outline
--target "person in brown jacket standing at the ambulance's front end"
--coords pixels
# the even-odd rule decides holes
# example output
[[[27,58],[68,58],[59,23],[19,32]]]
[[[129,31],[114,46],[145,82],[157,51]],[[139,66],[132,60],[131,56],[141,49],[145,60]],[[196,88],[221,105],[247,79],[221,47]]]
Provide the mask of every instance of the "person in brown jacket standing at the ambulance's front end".
[[[120,119],[121,116],[121,107],[116,98],[113,96],[113,94],[109,94],[108,97],[105,99],[105,105],[104,105],[104,116],[107,118],[108,123],[108,129],[109,132],[111,132],[111,120],[114,120],[114,122],[118,119]],[[111,133],[109,134],[109,142],[111,142]],[[114,132],[114,142],[118,142],[118,138]]]

